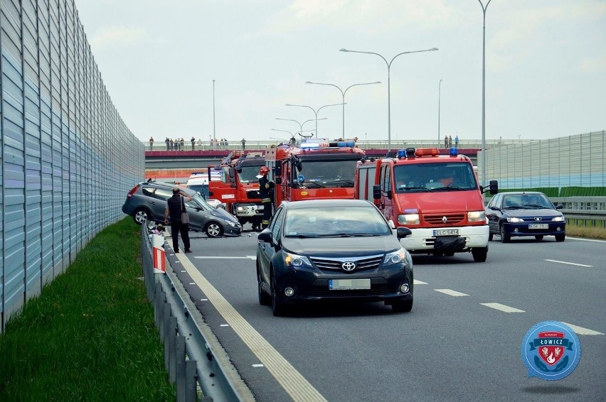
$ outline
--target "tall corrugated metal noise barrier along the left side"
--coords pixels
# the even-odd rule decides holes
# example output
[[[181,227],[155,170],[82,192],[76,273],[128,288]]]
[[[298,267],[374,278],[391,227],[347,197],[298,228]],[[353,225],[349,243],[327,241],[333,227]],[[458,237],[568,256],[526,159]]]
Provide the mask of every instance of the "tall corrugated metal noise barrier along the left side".
[[[144,178],[73,0],[0,0],[1,330]]]

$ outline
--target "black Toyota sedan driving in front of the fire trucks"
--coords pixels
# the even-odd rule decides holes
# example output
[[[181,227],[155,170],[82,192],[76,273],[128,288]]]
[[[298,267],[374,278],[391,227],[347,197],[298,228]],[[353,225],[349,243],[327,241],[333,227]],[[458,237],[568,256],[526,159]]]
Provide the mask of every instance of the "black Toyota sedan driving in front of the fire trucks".
[[[274,315],[312,300],[382,301],[413,308],[413,260],[381,212],[366,200],[285,202],[258,235],[259,303]]]

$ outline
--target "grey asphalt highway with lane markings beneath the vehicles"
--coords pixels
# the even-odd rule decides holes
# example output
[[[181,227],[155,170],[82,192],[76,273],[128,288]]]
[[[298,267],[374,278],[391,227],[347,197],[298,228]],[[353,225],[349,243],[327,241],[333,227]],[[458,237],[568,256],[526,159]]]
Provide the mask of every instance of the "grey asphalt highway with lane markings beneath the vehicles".
[[[495,237],[485,263],[413,257],[410,313],[339,303],[274,317],[257,301],[256,235],[192,233],[193,253],[169,259],[257,401],[606,401],[605,241]],[[546,320],[573,325],[582,348],[559,381],[527,378],[521,361]]]

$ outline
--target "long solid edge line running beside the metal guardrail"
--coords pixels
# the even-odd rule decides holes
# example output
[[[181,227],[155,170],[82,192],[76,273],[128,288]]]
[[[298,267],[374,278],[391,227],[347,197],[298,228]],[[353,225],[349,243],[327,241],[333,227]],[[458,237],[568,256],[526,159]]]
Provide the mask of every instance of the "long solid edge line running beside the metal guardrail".
[[[285,357],[272,347],[262,335],[255,330],[248,321],[238,313],[228,300],[202,275],[200,271],[185,256],[183,258],[184,268],[189,276],[196,282],[198,288],[203,291],[208,300],[213,303],[223,319],[232,327],[233,331],[255,354],[257,359],[267,367],[276,381],[289,394],[293,401],[319,401],[324,402],[326,398],[314,388],[312,384],[302,376],[297,369],[290,364]]]

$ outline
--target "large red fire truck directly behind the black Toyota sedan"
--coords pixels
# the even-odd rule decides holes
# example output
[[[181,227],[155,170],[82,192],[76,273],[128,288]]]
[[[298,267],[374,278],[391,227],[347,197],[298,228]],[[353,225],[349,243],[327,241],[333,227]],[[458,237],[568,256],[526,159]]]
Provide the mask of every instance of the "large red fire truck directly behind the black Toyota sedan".
[[[355,141],[307,138],[298,146],[267,148],[265,164],[275,179],[275,206],[282,201],[353,198],[356,163],[365,156]]]

